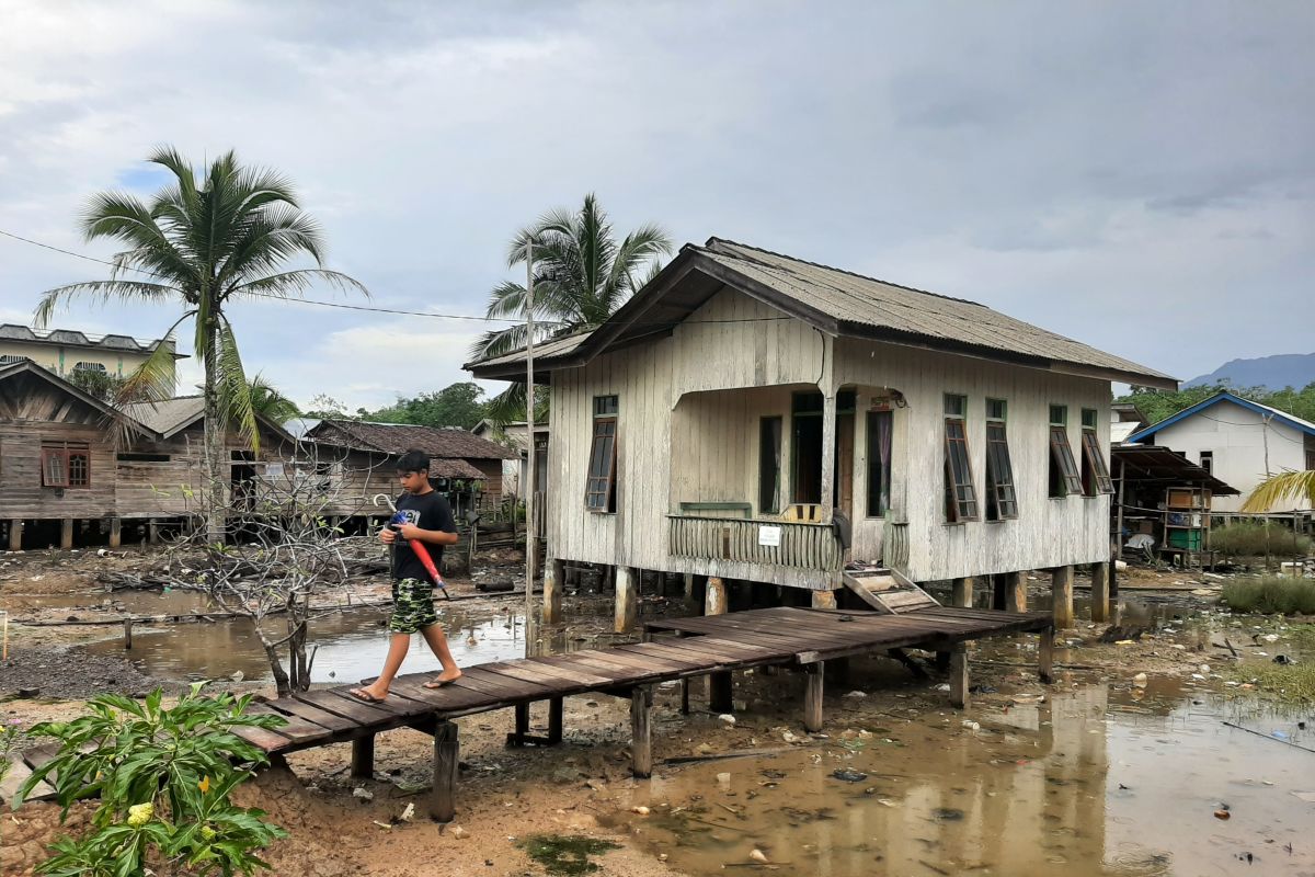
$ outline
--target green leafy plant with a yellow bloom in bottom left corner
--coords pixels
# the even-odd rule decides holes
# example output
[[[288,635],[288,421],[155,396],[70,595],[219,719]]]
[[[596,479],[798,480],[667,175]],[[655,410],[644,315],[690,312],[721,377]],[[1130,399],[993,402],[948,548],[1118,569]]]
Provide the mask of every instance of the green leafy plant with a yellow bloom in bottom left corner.
[[[54,856],[38,866],[53,877],[130,877],[145,873],[251,874],[268,868],[255,851],[285,838],[264,813],[237,807],[233,789],[268,761],[264,752],[233,732],[272,728],[277,715],[246,713],[251,697],[203,697],[204,682],[171,709],[159,689],[143,702],[117,694],[88,701],[72,722],[45,722],[34,736],[59,742],[59,752],[34,770],[18,801],[46,780],[63,807],[100,797],[92,830],[51,844]],[[17,806],[17,803],[14,805]]]

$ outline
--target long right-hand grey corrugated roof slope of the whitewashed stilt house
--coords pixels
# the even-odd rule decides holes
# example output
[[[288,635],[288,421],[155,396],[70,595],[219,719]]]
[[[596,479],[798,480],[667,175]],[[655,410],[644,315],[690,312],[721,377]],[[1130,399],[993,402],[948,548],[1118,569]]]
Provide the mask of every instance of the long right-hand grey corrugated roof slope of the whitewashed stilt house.
[[[693,249],[843,323],[1173,380],[973,301],[901,287],[732,241],[713,238],[706,247]]]

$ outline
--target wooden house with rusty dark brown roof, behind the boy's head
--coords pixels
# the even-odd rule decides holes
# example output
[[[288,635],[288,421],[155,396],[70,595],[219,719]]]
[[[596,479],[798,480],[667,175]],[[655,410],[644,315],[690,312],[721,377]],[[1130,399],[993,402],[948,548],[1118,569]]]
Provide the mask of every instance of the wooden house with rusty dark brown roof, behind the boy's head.
[[[502,498],[502,463],[515,459],[510,448],[448,426],[322,419],[306,430],[304,439],[316,447],[368,455],[373,471],[384,476],[380,490],[385,493],[397,493],[392,462],[412,448],[425,451],[431,460],[430,481],[448,497],[456,514],[497,505]]]

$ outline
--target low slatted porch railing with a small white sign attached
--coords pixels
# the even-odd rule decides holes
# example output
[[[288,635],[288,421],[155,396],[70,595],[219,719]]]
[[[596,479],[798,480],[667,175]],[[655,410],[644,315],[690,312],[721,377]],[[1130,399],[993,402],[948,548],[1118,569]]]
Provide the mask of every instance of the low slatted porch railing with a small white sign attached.
[[[826,523],[776,519],[738,521],[668,515],[675,557],[726,560],[835,572],[844,563],[840,543]]]

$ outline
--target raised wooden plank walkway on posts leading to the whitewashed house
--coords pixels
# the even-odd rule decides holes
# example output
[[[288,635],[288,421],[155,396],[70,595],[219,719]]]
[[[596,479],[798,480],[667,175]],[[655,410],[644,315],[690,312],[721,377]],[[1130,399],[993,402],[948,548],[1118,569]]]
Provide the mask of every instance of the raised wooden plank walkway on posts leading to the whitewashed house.
[[[316,689],[292,697],[252,703],[260,713],[287,719],[276,731],[238,728],[235,732],[264,749],[274,760],[329,743],[351,742],[351,774],[373,776],[375,735],[412,727],[434,736],[434,788],[430,815],[441,822],[454,817],[459,742],[452,719],[505,707],[515,710],[514,746],[555,744],[562,740],[562,699],[601,692],[631,702],[631,759],[635,776],[652,770],[650,711],[652,688],[680,680],[682,709],[689,710],[689,680],[710,676],[710,706],[731,710],[730,675],[751,667],[796,667],[807,673],[805,727],[822,727],[823,665],[828,660],[872,652],[923,647],[949,655],[951,701],[968,701],[968,661],[963,643],[985,636],[1040,631],[1039,671],[1051,673],[1052,617],[1049,613],[1002,613],[978,609],[932,607],[905,615],[846,613],[813,609],[757,609],[698,618],[655,621],[646,625],[646,642],[631,646],[526,657],[463,668],[456,682],[426,689],[433,675],[394,680],[383,703],[366,703],[348,693],[352,686]],[[548,734],[529,734],[530,705],[547,701]],[[24,763],[5,782],[12,793],[30,770],[54,755],[53,747],[24,753]],[[46,795],[42,794],[46,793]],[[37,789],[29,799],[49,797]],[[8,799],[9,794],[5,794]]]

